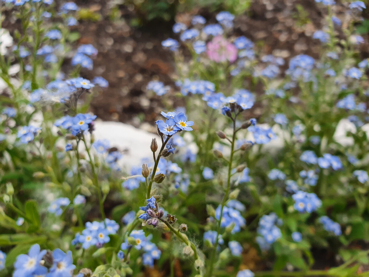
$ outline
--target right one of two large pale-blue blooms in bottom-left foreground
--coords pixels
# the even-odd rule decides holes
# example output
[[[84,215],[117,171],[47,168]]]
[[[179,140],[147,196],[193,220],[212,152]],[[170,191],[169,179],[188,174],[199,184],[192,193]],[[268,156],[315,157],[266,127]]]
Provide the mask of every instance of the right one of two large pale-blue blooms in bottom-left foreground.
[[[76,266],[73,264],[72,251],[64,253],[62,250],[55,249],[52,252],[53,265],[46,277],[65,277],[72,276]]]

